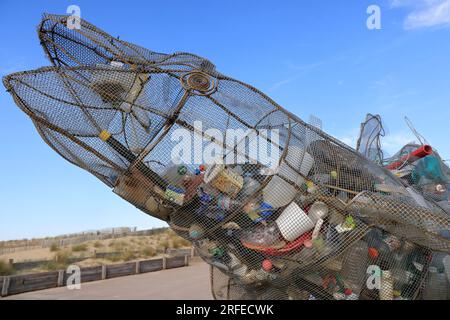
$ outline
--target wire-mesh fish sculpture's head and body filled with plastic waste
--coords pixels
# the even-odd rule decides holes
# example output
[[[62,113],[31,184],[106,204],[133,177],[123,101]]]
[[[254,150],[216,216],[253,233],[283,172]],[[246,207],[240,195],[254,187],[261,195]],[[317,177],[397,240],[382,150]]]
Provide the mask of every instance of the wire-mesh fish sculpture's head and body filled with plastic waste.
[[[38,28],[53,66],[4,85],[56,152],[192,242],[215,298],[447,298],[443,208],[205,59],[66,20]]]

